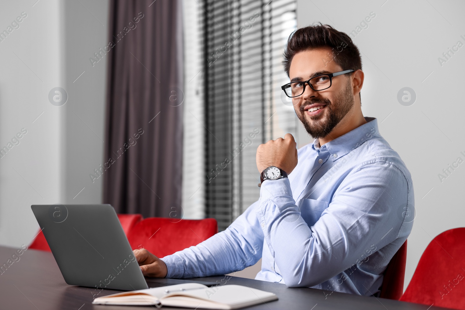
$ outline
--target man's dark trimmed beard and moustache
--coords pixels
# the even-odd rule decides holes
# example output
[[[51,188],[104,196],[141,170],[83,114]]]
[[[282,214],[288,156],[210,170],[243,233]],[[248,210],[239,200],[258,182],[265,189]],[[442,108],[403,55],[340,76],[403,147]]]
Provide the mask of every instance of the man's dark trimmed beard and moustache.
[[[340,92],[334,102],[329,99],[314,98],[306,100],[299,108],[299,113],[296,111],[297,117],[300,119],[306,131],[314,138],[325,138],[339,122],[344,119],[345,115],[352,109],[354,105],[352,86],[350,79],[347,80],[345,89]],[[312,121],[307,119],[304,106],[312,104],[325,104],[326,112],[319,115],[311,116]],[[326,119],[324,119],[326,114]]]

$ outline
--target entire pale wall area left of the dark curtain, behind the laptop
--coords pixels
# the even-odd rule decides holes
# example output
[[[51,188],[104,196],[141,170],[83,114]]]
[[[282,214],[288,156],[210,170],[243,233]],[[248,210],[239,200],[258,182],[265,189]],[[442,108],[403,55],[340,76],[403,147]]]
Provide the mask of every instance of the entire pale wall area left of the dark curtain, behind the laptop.
[[[106,45],[108,1],[3,1],[0,31],[21,12],[0,42],[0,147],[27,130],[0,158],[0,244],[10,246],[37,233],[31,204],[100,203],[102,189],[88,175],[103,159],[106,59],[89,57]],[[48,99],[57,86],[63,106]]]

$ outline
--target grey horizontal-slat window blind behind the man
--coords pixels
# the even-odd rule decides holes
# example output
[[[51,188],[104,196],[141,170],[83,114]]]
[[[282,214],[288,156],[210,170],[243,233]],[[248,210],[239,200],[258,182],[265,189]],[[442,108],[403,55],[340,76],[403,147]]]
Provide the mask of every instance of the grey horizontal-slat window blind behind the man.
[[[259,144],[297,136],[299,121],[280,86],[296,28],[295,0],[204,0],[206,216],[226,229],[258,200]],[[284,100],[284,101],[283,101]]]

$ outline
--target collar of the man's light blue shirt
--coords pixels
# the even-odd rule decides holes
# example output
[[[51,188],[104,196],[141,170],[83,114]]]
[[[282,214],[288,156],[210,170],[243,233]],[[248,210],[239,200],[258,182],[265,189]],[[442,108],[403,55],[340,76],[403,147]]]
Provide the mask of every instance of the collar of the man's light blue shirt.
[[[365,124],[329,141],[322,147],[319,145],[319,140],[315,139],[312,144],[312,149],[318,152],[328,150],[331,154],[330,158],[332,158],[332,161],[335,161],[356,149],[365,141],[371,140],[375,136],[379,137],[378,119],[365,117],[365,120]]]

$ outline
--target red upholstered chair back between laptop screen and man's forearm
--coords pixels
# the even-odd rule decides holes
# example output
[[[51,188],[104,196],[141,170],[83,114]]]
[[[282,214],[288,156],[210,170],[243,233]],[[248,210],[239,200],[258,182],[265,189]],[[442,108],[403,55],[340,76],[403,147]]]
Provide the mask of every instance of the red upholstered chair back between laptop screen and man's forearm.
[[[143,247],[157,257],[165,257],[197,245],[217,232],[214,218],[146,218],[134,226],[127,238],[134,250]]]

